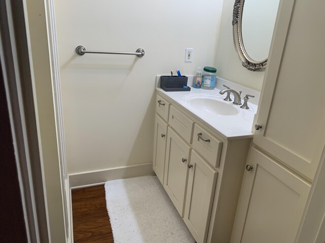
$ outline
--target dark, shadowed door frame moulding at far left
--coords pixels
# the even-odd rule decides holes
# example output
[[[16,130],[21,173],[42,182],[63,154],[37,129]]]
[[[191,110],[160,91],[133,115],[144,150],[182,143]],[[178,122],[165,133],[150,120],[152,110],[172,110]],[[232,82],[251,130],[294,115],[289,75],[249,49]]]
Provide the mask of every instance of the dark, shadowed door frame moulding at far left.
[[[0,59],[28,242],[49,242],[46,192],[23,1],[0,1]],[[19,38],[16,34],[19,33]]]

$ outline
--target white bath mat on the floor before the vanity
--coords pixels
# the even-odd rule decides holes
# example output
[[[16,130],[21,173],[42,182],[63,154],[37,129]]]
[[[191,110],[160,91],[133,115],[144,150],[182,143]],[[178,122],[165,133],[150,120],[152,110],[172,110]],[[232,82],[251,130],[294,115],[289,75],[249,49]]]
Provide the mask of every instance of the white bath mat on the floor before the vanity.
[[[106,205],[114,243],[194,243],[156,176],[108,181]]]

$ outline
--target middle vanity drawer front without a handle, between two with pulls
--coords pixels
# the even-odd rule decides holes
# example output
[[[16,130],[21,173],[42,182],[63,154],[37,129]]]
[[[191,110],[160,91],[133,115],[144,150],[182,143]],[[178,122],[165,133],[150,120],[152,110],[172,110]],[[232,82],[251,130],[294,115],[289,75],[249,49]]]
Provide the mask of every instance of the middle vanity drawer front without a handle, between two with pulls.
[[[180,111],[171,106],[168,122],[186,142],[189,144],[192,143],[194,121],[187,118]]]

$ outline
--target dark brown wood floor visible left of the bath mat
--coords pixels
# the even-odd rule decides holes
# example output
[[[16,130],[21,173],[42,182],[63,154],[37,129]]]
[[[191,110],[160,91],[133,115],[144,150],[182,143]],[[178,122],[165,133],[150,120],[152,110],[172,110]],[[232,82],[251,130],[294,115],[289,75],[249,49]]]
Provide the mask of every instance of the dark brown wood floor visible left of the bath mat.
[[[75,243],[113,243],[104,185],[72,190]]]

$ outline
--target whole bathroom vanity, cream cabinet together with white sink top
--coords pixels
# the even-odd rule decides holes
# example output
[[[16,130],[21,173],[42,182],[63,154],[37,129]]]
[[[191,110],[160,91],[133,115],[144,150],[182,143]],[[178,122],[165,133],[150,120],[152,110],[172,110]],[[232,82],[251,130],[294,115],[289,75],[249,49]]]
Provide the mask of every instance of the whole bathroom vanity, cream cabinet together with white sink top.
[[[156,88],[153,170],[198,243],[230,242],[256,106]]]

